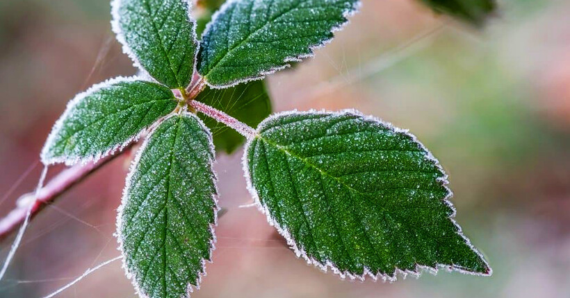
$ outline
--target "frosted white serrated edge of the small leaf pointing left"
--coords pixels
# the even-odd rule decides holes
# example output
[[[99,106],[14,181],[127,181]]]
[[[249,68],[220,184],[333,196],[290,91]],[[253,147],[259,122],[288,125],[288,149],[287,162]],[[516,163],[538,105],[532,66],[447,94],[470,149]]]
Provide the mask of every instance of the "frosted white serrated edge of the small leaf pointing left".
[[[49,148],[54,145],[57,133],[63,128],[63,121],[67,119],[67,116],[69,116],[72,109],[77,104],[79,104],[79,102],[81,102],[83,98],[86,98],[86,96],[89,96],[95,91],[99,91],[100,89],[103,89],[105,87],[110,87],[111,85],[120,82],[136,82],[136,81],[147,81],[147,80],[145,80],[144,78],[140,78],[138,76],[131,76],[131,77],[119,76],[117,78],[111,78],[104,82],[99,82],[95,85],[92,85],[89,89],[77,94],[72,100],[70,100],[67,103],[67,106],[65,107],[65,111],[58,118],[53,128],[51,128],[51,132],[47,136],[47,140],[45,141],[44,147],[42,148],[42,151],[40,153],[40,160],[42,161],[42,164],[44,164],[45,166],[50,166],[53,164],[63,163],[66,166],[72,166],[74,164],[87,164],[90,161],[97,162],[99,159],[103,157],[106,157],[108,155],[113,155],[115,152],[123,150],[125,147],[129,146],[130,143],[138,141],[138,139],[140,139],[142,134],[144,134],[147,129],[142,129],[133,137],[127,139],[127,141],[115,144],[97,155],[88,155],[87,157],[70,156],[70,155],[67,155],[65,157],[49,157]],[[174,98],[174,95],[172,96],[172,98]]]

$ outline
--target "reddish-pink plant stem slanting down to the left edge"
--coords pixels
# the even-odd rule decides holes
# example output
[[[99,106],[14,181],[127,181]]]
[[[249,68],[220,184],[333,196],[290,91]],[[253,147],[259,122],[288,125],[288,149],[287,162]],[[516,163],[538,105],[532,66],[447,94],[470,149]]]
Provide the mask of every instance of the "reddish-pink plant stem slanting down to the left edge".
[[[45,186],[35,193],[26,193],[17,200],[16,208],[10,211],[7,216],[0,219],[0,241],[10,236],[22,223],[26,220],[27,212],[31,211],[31,217],[34,218],[47,204],[51,204],[60,195],[69,191],[74,185],[78,184],[91,173],[95,172],[102,166],[108,164],[109,161],[122,155],[129,150],[125,149],[115,155],[105,157],[96,163],[76,164],[71,168],[61,171],[56,177],[51,179]],[[31,209],[30,209],[31,208]]]

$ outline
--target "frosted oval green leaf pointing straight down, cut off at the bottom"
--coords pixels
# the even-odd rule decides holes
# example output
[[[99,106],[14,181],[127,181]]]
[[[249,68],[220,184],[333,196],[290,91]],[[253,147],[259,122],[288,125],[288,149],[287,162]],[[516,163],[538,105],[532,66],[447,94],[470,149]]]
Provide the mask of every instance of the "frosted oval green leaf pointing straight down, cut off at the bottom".
[[[211,134],[197,116],[184,114],[161,123],[133,161],[117,231],[141,297],[188,297],[199,287],[215,242],[213,160]]]

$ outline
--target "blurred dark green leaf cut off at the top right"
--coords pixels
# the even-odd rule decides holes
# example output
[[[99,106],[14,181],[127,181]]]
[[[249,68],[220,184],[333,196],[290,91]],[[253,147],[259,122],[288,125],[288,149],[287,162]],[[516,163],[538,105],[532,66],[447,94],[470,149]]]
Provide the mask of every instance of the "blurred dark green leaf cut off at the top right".
[[[495,0],[421,0],[435,12],[481,26],[496,9]]]

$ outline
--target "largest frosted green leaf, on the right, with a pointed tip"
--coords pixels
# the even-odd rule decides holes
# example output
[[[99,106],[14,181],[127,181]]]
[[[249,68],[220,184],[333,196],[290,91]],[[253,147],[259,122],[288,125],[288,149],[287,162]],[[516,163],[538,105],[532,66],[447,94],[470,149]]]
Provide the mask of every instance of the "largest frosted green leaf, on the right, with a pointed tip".
[[[491,269],[453,221],[446,174],[414,136],[356,112],[263,121],[250,190],[298,256],[341,277]]]

